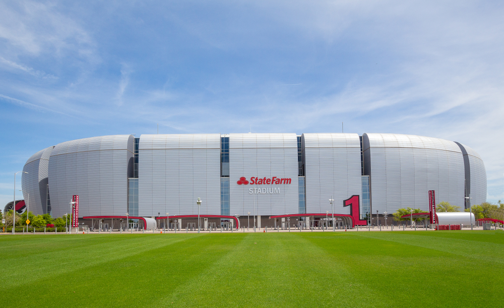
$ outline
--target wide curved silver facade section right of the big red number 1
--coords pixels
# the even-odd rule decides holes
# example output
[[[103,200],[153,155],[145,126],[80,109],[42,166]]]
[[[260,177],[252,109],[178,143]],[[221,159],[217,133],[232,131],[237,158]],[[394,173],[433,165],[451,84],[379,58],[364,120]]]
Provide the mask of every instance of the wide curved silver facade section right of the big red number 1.
[[[370,175],[372,212],[398,208],[428,210],[437,202],[464,204],[464,162],[455,142],[398,134],[364,134],[364,172]]]

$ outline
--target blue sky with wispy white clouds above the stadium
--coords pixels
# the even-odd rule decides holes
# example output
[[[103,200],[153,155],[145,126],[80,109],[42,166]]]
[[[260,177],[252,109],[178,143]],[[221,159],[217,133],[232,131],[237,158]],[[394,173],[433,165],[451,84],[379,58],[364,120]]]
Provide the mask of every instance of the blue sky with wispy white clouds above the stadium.
[[[503,198],[504,3],[0,0],[0,205],[60,142],[398,133],[458,141]],[[18,176],[17,188],[21,185]]]

